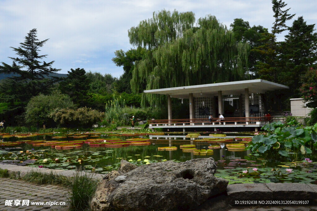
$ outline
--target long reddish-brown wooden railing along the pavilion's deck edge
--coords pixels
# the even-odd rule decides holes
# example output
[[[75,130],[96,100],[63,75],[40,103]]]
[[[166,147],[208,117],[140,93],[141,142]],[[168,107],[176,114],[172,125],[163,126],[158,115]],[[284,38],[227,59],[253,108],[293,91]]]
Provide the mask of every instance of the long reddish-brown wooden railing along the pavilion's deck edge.
[[[268,123],[271,121],[271,117],[229,117],[229,118],[212,118],[211,121],[208,118],[199,118],[199,119],[159,119],[159,120],[148,120],[150,127],[151,126],[179,126],[179,125],[217,125],[219,123],[226,124],[256,124],[260,125],[261,123]]]

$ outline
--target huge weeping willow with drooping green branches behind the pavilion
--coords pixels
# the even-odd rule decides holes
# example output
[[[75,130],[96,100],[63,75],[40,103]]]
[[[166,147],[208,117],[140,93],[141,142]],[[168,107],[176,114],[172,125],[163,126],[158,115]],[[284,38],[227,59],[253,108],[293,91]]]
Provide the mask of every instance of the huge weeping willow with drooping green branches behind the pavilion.
[[[131,89],[161,89],[247,78],[249,44],[237,42],[234,33],[215,16],[199,18],[192,12],[162,10],[129,30],[130,43],[147,49],[135,63]],[[147,94],[142,104],[158,105],[164,96]]]

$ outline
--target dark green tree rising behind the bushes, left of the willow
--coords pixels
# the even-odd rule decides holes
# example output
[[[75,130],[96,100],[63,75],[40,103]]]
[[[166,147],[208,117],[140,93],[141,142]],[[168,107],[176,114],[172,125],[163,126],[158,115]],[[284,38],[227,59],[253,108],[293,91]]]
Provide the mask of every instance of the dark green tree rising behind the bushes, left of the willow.
[[[59,89],[63,94],[69,95],[76,106],[86,106],[90,88],[86,71],[83,68],[76,68],[67,72],[67,78],[60,82]]]

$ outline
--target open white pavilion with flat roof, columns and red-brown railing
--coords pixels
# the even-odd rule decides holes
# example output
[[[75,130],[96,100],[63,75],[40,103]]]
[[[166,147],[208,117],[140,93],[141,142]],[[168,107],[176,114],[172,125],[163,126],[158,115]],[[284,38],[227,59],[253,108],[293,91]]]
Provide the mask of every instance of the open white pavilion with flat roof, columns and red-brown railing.
[[[208,128],[262,127],[264,118],[263,94],[267,91],[289,89],[278,83],[262,79],[211,83],[194,86],[144,90],[144,93],[167,95],[168,119],[150,120],[149,128]],[[189,99],[189,119],[172,119],[171,98]],[[229,112],[225,108],[230,108]],[[226,113],[227,112],[227,113]],[[218,113],[224,115],[222,124]],[[208,116],[214,119],[208,124]]]

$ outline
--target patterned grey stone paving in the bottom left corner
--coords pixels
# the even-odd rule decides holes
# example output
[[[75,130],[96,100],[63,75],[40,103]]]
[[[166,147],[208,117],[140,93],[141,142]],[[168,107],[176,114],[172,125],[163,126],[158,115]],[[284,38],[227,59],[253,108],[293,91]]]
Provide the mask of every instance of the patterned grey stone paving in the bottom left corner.
[[[0,211],[41,211],[68,210],[68,189],[55,185],[37,185],[21,180],[0,178]],[[13,200],[11,206],[6,206],[6,200]],[[19,205],[15,205],[15,200]],[[29,206],[23,205],[23,200],[29,200]],[[44,202],[44,205],[32,205],[32,202]],[[45,205],[46,202],[65,202],[65,205]]]

